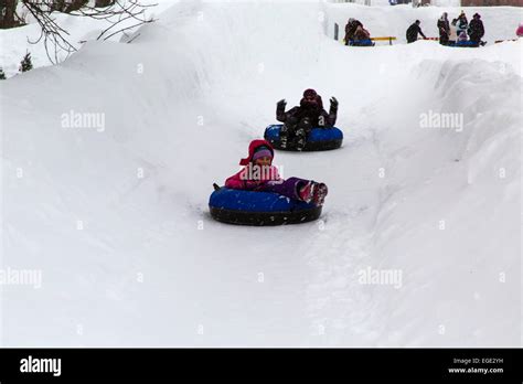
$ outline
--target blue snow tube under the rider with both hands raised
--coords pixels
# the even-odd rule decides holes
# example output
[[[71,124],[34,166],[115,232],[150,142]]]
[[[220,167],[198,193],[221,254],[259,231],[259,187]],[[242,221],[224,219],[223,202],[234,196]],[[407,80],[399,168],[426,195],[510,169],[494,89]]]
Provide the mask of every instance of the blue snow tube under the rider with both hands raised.
[[[290,151],[296,151],[296,146],[289,140],[286,148],[281,148],[279,141],[279,132],[282,125],[276,124],[268,126],[265,129],[265,140],[269,141],[276,149],[285,149]],[[337,127],[328,128],[312,128],[307,138],[307,143],[303,151],[324,151],[329,149],[337,149],[341,147],[343,142],[343,132]]]

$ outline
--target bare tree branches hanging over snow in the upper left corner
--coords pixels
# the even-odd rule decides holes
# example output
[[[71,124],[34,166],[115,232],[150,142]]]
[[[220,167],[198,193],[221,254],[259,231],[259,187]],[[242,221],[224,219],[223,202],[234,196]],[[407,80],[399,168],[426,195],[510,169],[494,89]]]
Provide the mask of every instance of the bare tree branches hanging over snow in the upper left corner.
[[[0,4],[6,3],[6,9],[13,9],[12,18],[15,14],[18,0],[0,0]],[[57,13],[68,13],[78,18],[92,18],[104,20],[107,28],[97,36],[97,40],[107,40],[118,33],[125,33],[130,29],[141,24],[153,22],[152,18],[146,17],[146,10],[157,4],[140,4],[139,0],[95,0],[95,7],[88,6],[88,0],[20,0],[41,28],[40,36],[30,41],[36,44],[43,41],[45,52],[52,63],[60,61],[60,54],[70,55],[76,51],[75,42],[70,39],[70,33],[60,25],[55,15]],[[1,25],[14,23],[11,15],[6,19],[3,13]],[[10,26],[7,26],[10,28]]]

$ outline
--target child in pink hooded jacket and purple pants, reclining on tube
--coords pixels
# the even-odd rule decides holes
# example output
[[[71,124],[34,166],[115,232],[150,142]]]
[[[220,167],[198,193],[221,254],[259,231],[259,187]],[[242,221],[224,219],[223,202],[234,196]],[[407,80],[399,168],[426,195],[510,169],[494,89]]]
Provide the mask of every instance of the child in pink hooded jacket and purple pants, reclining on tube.
[[[266,140],[253,140],[248,157],[239,161],[245,166],[239,172],[225,181],[225,186],[234,190],[274,192],[284,196],[323,205],[327,185],[312,180],[290,178],[284,180],[273,166],[274,149]]]

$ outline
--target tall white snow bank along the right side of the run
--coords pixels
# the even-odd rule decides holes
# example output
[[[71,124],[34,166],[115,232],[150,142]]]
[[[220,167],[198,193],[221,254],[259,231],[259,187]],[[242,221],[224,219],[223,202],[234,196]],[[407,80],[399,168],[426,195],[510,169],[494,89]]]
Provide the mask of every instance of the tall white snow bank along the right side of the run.
[[[373,317],[386,319],[377,328],[380,344],[521,341],[521,77],[502,65],[421,62],[413,95],[438,98],[414,96],[397,122],[393,103],[376,120],[389,182],[372,256],[355,270],[403,273],[401,289],[367,292]],[[462,125],[424,126],[423,115],[431,113],[456,114]]]

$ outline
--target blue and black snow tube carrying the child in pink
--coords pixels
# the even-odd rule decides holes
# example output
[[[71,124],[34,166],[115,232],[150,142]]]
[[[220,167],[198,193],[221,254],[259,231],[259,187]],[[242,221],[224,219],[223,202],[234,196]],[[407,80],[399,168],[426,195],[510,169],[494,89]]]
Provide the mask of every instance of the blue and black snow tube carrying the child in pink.
[[[233,190],[215,185],[209,199],[211,216],[218,222],[241,225],[306,223],[321,215],[321,206],[273,192]]]

